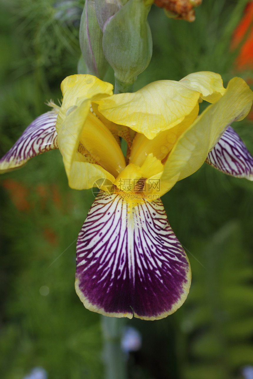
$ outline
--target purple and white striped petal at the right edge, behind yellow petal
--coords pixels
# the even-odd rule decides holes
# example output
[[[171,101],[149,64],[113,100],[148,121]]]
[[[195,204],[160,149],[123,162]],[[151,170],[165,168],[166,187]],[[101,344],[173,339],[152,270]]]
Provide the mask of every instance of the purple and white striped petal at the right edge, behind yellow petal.
[[[231,126],[208,153],[206,163],[225,174],[253,180],[253,157]]]

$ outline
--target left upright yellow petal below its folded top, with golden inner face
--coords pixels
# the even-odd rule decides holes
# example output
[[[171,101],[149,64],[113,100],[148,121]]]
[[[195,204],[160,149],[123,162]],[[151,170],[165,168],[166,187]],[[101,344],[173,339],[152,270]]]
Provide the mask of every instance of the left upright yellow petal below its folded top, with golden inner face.
[[[85,161],[85,157],[78,152],[80,141],[85,149],[93,149],[91,156],[101,167]],[[90,112],[89,99],[75,108],[60,125],[58,146],[71,188],[91,188],[101,178],[113,182],[112,174],[115,172],[118,175],[118,171],[125,167],[123,153],[110,131]],[[122,167],[119,168],[120,165]]]

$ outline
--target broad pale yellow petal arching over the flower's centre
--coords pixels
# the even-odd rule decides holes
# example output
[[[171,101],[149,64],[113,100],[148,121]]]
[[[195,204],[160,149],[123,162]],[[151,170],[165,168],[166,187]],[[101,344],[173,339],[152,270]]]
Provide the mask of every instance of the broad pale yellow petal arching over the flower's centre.
[[[184,83],[160,80],[134,93],[96,101],[108,120],[126,125],[147,138],[178,125],[195,108],[200,92]]]

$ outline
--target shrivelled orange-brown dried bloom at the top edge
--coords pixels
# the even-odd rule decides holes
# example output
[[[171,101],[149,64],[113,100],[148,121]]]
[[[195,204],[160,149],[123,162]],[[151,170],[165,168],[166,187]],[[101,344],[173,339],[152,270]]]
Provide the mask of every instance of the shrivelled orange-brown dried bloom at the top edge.
[[[202,0],[154,0],[154,3],[160,8],[165,8],[169,17],[187,20],[195,20],[195,11],[193,8],[199,6]]]

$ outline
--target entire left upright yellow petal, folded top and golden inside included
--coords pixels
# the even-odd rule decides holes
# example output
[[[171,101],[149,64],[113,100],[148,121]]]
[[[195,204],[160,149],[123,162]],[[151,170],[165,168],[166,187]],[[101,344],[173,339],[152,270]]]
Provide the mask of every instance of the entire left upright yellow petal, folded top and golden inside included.
[[[91,101],[110,96],[112,88],[92,75],[72,75],[61,83],[63,103],[56,128],[71,188],[91,188],[102,178],[113,182],[126,166],[112,133],[90,111]]]

